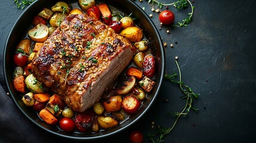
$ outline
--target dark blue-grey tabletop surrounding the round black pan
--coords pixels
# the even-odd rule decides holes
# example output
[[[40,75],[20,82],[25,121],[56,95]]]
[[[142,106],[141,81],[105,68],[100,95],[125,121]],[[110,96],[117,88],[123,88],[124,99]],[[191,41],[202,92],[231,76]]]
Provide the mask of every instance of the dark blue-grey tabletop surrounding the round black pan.
[[[144,7],[147,14],[153,14],[152,20],[160,27],[158,14],[151,11],[157,5],[145,0],[135,3]],[[201,94],[194,102],[199,113],[190,112],[186,119],[180,119],[165,142],[256,142],[256,2],[195,0],[193,5],[195,15],[187,27],[163,26],[159,30],[167,43],[166,73],[177,71],[174,57],[178,56],[183,81]],[[170,6],[169,10],[175,12],[177,22],[190,9],[178,12]],[[22,12],[14,1],[1,2],[1,67],[5,41]],[[73,142],[30,122],[4,91],[2,68],[0,71],[0,142]],[[143,132],[147,142],[147,133],[154,132],[152,121],[166,128],[172,125],[174,118],[167,112],[183,108],[185,102],[180,96],[178,86],[165,80],[143,118],[117,135],[91,142],[129,142],[132,130]],[[168,102],[164,102],[166,99]]]

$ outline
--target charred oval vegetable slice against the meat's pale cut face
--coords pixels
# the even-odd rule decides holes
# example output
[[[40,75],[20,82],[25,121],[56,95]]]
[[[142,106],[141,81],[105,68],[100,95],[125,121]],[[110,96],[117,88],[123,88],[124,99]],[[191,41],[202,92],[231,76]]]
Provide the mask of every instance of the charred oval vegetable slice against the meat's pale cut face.
[[[118,95],[128,94],[128,92],[134,88],[135,83],[136,79],[134,76],[125,77],[116,84],[116,93]]]

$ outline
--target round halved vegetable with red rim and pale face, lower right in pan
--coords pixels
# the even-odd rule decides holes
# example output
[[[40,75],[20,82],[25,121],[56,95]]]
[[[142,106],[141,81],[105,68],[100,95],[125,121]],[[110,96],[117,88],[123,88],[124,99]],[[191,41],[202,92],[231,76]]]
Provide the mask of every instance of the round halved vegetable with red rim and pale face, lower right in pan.
[[[134,96],[128,95],[122,101],[122,108],[129,114],[134,114],[140,108],[141,102]]]

